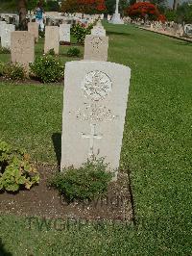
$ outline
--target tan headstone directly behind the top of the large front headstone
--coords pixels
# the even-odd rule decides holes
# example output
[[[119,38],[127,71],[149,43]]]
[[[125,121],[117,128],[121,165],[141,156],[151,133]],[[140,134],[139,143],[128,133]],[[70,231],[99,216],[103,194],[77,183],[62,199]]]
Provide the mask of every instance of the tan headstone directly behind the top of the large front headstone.
[[[84,40],[84,60],[108,61],[108,37],[88,35]]]

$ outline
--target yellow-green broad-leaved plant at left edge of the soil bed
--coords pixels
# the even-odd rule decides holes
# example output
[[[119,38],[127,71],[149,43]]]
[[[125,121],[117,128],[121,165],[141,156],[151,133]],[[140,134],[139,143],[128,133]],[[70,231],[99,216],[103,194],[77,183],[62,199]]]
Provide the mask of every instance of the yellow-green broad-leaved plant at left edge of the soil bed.
[[[0,191],[30,190],[39,182],[39,174],[30,164],[30,156],[0,141]]]

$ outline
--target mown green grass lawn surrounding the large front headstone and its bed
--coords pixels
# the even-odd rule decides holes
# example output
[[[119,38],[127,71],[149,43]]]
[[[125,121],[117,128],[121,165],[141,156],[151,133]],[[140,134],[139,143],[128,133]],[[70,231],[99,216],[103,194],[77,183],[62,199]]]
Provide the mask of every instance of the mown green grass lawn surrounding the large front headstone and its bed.
[[[13,255],[192,255],[192,44],[132,26],[106,28],[108,61],[132,68],[121,167],[131,175],[136,224],[38,231],[2,216],[0,237]],[[42,47],[41,39],[36,54]],[[62,90],[1,83],[0,137],[56,164]]]

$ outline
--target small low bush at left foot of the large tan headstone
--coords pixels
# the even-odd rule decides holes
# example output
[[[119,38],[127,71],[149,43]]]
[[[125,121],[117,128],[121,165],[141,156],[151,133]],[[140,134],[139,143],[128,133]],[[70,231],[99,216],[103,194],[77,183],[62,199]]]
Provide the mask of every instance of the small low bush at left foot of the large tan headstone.
[[[21,64],[5,64],[3,74],[12,80],[24,80],[26,77],[25,68]]]

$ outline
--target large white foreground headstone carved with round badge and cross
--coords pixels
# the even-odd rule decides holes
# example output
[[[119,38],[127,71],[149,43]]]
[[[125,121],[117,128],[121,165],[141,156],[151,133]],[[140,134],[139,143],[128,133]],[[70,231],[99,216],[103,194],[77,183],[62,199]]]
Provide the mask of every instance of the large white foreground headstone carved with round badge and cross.
[[[108,169],[119,167],[130,78],[122,64],[65,64],[61,170],[93,155],[104,157]]]

